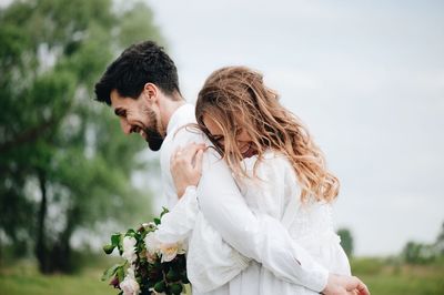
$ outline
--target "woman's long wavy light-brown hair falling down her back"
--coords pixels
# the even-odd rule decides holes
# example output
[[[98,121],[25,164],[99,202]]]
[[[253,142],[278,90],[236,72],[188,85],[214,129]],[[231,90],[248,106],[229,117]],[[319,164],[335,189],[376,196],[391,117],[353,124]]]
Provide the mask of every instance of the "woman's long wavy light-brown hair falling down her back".
[[[223,146],[205,128],[205,115],[222,130]],[[302,189],[302,201],[314,197],[330,202],[337,196],[339,180],[326,170],[321,150],[301,121],[280,104],[278,93],[264,85],[261,73],[245,67],[228,67],[213,72],[199,92],[195,118],[236,175],[245,176],[241,165],[243,157],[235,141],[238,131],[243,129],[252,139],[259,161],[269,149],[287,156]]]

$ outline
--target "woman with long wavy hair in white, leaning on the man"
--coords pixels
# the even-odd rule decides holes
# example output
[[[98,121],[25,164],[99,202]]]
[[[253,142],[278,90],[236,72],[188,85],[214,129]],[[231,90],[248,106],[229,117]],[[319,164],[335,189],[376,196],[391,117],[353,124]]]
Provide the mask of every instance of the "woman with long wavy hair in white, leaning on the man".
[[[350,275],[330,214],[337,179],[325,169],[320,150],[300,121],[263,84],[262,75],[243,67],[215,71],[199,93],[195,114],[251,210],[281,220],[330,273]],[[200,171],[184,169],[195,155],[180,150],[172,157],[179,192],[199,181]],[[194,267],[199,263],[204,269],[205,261],[194,262]],[[239,271],[220,292],[211,294],[315,294],[284,282],[254,261]]]

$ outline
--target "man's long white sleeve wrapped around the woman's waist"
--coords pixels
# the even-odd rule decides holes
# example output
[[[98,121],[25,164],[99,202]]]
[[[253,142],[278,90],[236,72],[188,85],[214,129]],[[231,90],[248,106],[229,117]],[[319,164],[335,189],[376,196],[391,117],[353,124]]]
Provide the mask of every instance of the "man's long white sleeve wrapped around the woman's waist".
[[[203,169],[198,185],[199,206],[223,240],[281,279],[323,291],[327,269],[292,240],[280,221],[252,213],[230,169],[211,149],[204,155]]]

